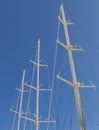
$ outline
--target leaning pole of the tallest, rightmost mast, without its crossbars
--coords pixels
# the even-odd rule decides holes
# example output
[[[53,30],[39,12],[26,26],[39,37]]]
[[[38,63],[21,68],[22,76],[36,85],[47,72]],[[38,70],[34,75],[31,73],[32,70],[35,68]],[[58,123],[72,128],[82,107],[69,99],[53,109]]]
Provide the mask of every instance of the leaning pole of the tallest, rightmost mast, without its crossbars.
[[[60,6],[60,10],[62,13],[62,19],[64,21],[63,26],[64,26],[66,43],[67,43],[67,46],[70,46],[70,39],[69,39],[68,28],[67,28],[63,4]],[[83,113],[82,113],[80,93],[79,93],[79,89],[77,87],[77,78],[76,78],[76,72],[75,72],[74,61],[73,61],[73,56],[72,56],[71,50],[68,50],[68,56],[69,56],[72,80],[73,80],[73,85],[74,85],[73,87],[74,87],[74,94],[75,94],[78,117],[79,117],[79,122],[80,122],[80,130],[85,130],[85,123],[84,123]]]

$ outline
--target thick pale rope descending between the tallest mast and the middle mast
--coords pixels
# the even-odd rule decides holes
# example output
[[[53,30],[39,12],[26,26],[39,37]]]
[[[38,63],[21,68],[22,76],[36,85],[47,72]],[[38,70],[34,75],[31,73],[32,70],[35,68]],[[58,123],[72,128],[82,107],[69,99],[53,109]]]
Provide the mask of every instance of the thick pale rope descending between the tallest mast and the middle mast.
[[[60,13],[59,13],[60,16]],[[60,29],[60,21],[58,21],[58,29],[57,29],[57,39],[59,40],[59,29]],[[52,105],[52,97],[53,97],[53,86],[54,86],[54,77],[55,77],[55,67],[56,67],[56,59],[57,59],[57,51],[58,51],[58,44],[56,44],[55,49],[55,58],[54,58],[54,67],[53,67],[53,76],[52,76],[52,91],[50,96],[50,103],[49,103],[49,110],[48,110],[48,120],[50,119],[50,111],[51,111],[51,105]],[[49,123],[47,124],[47,130],[49,128]]]

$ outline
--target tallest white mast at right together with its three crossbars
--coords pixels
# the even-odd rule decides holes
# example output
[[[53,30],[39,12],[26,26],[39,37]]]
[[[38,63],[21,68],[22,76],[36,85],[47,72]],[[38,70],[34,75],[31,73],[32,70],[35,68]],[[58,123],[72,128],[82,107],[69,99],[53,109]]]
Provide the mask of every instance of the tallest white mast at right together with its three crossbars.
[[[87,85],[83,86],[82,84],[80,84],[77,81],[72,51],[76,51],[76,50],[82,51],[82,49],[71,47],[67,25],[72,24],[72,23],[66,21],[63,4],[61,4],[61,6],[60,6],[60,11],[62,14],[62,18],[60,18],[60,17],[58,17],[58,18],[59,18],[60,22],[63,24],[67,45],[63,44],[62,42],[60,42],[58,40],[57,40],[57,43],[59,43],[61,46],[63,46],[68,51],[68,57],[69,57],[69,62],[70,62],[71,75],[72,75],[72,82],[60,77],[59,75],[57,75],[57,78],[73,87],[75,99],[76,99],[76,105],[77,105],[77,112],[78,112],[78,117],[79,117],[79,122],[80,122],[80,130],[86,130],[85,122],[83,119],[82,105],[81,105],[81,99],[80,99],[80,93],[79,93],[78,87],[95,87],[95,86],[87,86]]]

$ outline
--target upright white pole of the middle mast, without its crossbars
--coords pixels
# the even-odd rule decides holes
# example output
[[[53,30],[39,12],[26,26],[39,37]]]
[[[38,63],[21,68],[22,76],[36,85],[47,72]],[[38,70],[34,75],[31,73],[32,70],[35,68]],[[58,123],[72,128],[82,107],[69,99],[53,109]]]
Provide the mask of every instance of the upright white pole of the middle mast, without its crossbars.
[[[37,56],[37,95],[36,95],[36,130],[39,128],[39,65],[40,65],[40,39],[38,40]]]

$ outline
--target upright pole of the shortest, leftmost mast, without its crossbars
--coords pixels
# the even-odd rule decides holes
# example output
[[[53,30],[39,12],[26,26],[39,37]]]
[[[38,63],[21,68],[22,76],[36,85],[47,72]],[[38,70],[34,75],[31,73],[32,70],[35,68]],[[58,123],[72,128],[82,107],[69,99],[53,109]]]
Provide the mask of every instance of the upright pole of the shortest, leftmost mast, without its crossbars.
[[[20,119],[21,119],[21,114],[22,114],[22,101],[23,101],[23,91],[24,91],[24,78],[25,78],[25,70],[23,71],[23,76],[22,76],[22,83],[21,83],[21,96],[20,96],[20,106],[19,106],[19,116],[18,116],[18,127],[17,130],[20,130]]]

